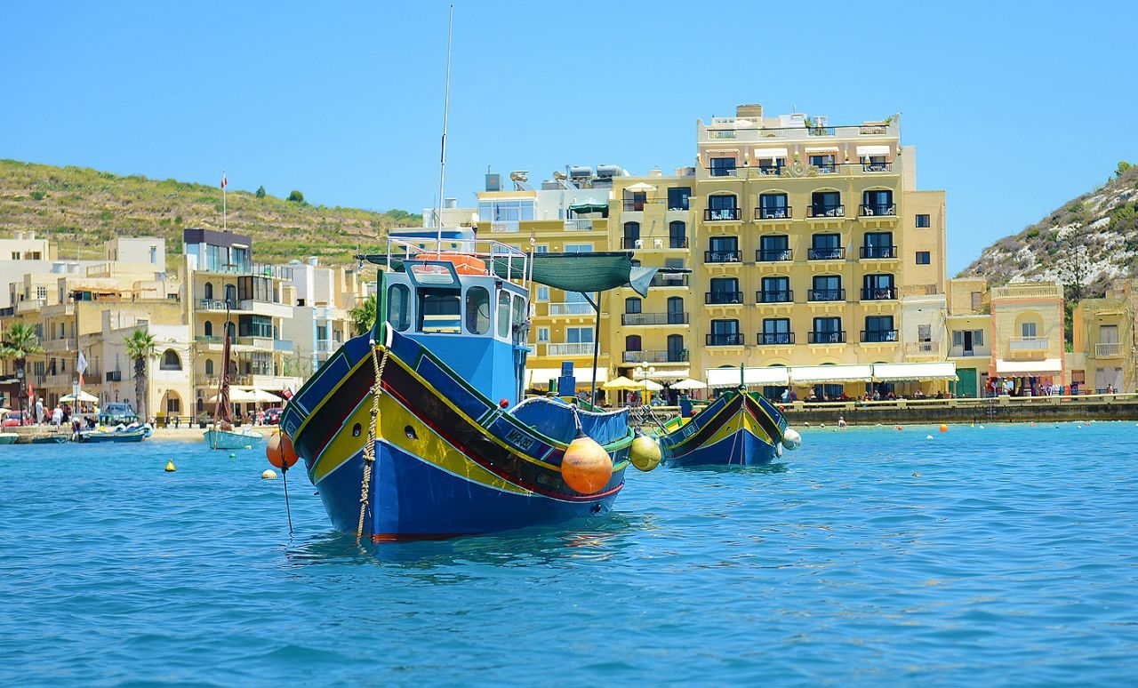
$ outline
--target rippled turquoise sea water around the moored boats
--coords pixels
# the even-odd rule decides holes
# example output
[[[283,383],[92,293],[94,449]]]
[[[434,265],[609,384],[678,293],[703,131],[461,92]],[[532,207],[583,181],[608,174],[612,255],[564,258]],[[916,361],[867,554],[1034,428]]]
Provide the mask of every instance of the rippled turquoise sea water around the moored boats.
[[[0,447],[0,682],[1138,677],[1133,423],[803,437],[633,471],[570,528],[368,554],[300,471],[290,538],[259,451]]]

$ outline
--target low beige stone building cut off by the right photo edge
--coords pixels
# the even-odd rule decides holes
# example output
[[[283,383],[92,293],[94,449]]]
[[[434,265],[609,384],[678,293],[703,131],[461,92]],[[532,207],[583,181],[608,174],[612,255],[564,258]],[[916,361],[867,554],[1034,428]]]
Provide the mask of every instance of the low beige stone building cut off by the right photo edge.
[[[1118,280],[1103,298],[1083,299],[1072,314],[1070,381],[1105,393],[1138,391],[1138,281]]]

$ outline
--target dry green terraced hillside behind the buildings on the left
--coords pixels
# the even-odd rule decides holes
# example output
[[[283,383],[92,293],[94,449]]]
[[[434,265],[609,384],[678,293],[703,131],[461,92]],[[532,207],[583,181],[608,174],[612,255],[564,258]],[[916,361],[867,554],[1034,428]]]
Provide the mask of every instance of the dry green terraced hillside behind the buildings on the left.
[[[230,190],[226,205],[229,229],[253,237],[258,263],[319,256],[346,264],[388,229],[422,223],[403,210],[310,206],[248,191]],[[218,188],[0,159],[0,237],[34,231],[57,241],[67,258],[98,258],[116,235],[162,237],[174,255],[184,227],[222,227]]]

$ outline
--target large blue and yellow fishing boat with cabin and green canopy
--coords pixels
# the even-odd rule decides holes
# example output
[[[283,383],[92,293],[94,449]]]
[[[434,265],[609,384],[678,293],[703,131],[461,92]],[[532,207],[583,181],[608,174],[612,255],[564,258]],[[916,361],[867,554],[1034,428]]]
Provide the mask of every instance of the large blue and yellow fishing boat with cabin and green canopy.
[[[607,513],[635,439],[628,409],[586,412],[551,397],[519,403],[529,288],[607,290],[633,281],[643,292],[655,268],[634,266],[628,252],[530,264],[469,231],[450,239],[461,262],[398,238],[386,255],[361,257],[387,268],[377,326],[329,357],[281,416],[332,525],[379,541]],[[571,395],[571,379],[563,383]],[[596,445],[603,465],[592,464],[589,480],[603,480],[584,487],[578,450]]]

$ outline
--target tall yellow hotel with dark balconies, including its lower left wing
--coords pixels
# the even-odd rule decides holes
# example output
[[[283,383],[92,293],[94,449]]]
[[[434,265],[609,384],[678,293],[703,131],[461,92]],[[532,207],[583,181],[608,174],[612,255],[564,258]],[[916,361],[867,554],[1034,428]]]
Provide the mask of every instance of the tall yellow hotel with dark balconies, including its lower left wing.
[[[599,380],[945,360],[945,193],[917,190],[899,117],[831,126],[739,106],[696,123],[695,159],[668,175],[568,167],[539,185],[519,172],[512,189],[487,175],[480,234],[525,249],[630,249],[644,265],[691,271],[659,275],[646,298],[604,295],[599,328],[580,295],[538,288],[531,383],[563,359],[589,379],[595,333]],[[835,396],[865,391],[856,376],[826,382]]]

